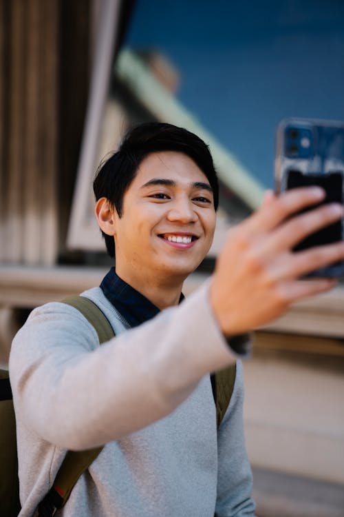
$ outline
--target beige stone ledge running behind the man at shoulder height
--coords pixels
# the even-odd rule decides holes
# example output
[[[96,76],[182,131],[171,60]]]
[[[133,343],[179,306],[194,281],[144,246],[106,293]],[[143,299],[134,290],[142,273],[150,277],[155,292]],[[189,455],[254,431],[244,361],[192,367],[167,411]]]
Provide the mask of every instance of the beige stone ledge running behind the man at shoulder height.
[[[35,307],[99,285],[106,267],[0,265],[0,305]],[[208,278],[196,272],[184,283],[189,294]],[[228,296],[230,294],[228,293]],[[264,330],[344,338],[344,285],[295,304]]]

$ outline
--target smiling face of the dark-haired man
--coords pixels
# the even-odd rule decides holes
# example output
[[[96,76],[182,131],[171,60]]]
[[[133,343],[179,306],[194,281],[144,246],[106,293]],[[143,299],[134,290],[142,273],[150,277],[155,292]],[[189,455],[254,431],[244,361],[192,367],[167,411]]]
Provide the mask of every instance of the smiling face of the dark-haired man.
[[[140,164],[115,218],[116,272],[123,280],[184,280],[213,241],[213,192],[189,156],[155,152]]]

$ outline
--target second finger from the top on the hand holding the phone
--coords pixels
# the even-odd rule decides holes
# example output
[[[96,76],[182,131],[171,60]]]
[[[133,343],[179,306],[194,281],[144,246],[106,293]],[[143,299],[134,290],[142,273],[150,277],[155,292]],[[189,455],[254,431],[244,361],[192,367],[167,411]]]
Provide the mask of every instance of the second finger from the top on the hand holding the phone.
[[[341,219],[343,214],[343,205],[331,203],[292,217],[278,227],[264,242],[265,252],[270,254],[281,250],[290,250],[305,237]]]

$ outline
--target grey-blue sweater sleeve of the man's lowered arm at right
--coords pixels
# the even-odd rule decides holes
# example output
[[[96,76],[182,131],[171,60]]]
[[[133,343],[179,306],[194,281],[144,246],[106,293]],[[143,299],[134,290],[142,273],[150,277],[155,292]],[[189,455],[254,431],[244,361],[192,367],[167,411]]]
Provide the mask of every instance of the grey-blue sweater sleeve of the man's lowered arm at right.
[[[251,498],[252,472],[246,454],[243,407],[244,379],[241,361],[230,404],[218,430],[217,517],[255,517]]]

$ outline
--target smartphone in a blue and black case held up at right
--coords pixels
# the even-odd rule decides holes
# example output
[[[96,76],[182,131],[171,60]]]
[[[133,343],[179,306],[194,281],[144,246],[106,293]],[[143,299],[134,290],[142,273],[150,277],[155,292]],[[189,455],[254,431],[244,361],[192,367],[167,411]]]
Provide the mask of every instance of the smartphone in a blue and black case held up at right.
[[[277,194],[296,187],[319,185],[325,203],[343,203],[344,122],[284,119],[276,134],[275,190]],[[342,241],[343,220],[328,225],[301,241],[294,251]],[[323,267],[309,276],[344,276],[344,262]]]

